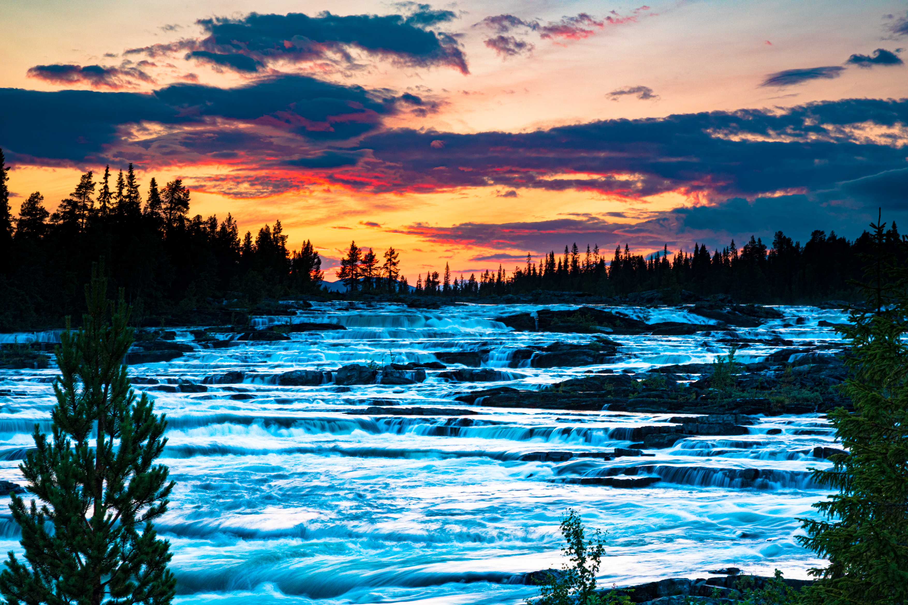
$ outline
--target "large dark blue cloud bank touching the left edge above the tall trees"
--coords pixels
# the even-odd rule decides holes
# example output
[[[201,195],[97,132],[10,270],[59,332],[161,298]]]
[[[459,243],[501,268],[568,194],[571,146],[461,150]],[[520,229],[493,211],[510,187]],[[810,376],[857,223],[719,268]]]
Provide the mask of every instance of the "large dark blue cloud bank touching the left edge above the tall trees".
[[[0,105],[5,108],[0,113],[0,146],[23,156],[19,161],[78,162],[101,157],[105,149],[122,143],[120,130],[131,124],[188,125],[210,119],[260,124],[308,141],[338,141],[375,129],[382,115],[396,111],[397,103],[393,97],[375,98],[360,86],[301,75],[228,89],[178,83],[152,94],[6,88],[0,89]],[[211,129],[165,134],[143,145],[151,154],[155,141],[166,141],[166,154],[178,161],[184,151],[246,151],[244,146],[255,149],[260,140],[255,132],[233,132],[229,124],[212,124]]]

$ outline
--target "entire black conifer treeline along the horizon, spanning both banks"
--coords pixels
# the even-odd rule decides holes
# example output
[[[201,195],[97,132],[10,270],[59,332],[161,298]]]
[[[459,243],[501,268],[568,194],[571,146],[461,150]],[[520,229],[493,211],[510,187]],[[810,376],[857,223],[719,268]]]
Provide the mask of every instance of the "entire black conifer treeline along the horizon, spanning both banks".
[[[851,282],[861,277],[863,255],[874,246],[866,231],[849,240],[821,230],[803,244],[777,231],[771,243],[751,237],[740,248],[734,240],[722,249],[697,243],[692,252],[666,247],[648,256],[627,245],[612,253],[575,243],[561,255],[528,255],[512,269],[499,265],[467,275],[446,264],[410,284],[400,275],[398,250],[350,242],[333,272],[349,290],[339,294],[322,288],[322,259],[310,240],[289,249],[280,220],[241,235],[230,214],[192,215],[183,181],[141,184],[132,165],[116,174],[105,167],[84,173],[55,211],[35,191],[15,217],[8,170],[0,151],[0,331],[61,327],[64,316],[83,312],[73,284],[83,283],[85,268],[101,257],[114,288],[124,289],[136,323],[152,327],[164,317],[228,323],[227,315],[212,313],[305,296],[494,299],[542,291],[645,304],[654,300],[637,295],[657,291],[665,303],[710,297],[762,304],[856,301],[861,294]],[[893,224],[881,245],[905,262],[900,237]]]

